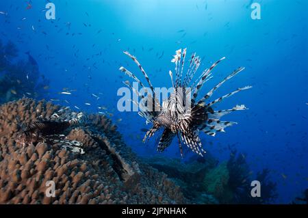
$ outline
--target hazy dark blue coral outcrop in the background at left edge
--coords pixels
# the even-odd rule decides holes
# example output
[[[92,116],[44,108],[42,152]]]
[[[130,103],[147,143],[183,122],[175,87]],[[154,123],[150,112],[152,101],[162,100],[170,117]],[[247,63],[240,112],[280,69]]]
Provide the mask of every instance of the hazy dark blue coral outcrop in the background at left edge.
[[[18,49],[12,42],[0,40],[0,103],[17,100],[23,96],[44,98],[49,81],[40,74],[35,59],[18,58]]]

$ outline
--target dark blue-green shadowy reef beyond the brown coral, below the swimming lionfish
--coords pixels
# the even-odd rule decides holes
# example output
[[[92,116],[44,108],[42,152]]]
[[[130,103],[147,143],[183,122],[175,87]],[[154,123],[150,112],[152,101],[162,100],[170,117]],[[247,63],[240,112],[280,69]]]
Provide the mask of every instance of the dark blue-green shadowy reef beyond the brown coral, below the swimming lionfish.
[[[168,174],[195,204],[265,204],[277,197],[276,184],[268,178],[270,171],[264,169],[253,178],[246,156],[236,150],[220,164],[210,155],[187,163],[159,157],[145,161]],[[252,180],[261,182],[261,197],[251,197]]]

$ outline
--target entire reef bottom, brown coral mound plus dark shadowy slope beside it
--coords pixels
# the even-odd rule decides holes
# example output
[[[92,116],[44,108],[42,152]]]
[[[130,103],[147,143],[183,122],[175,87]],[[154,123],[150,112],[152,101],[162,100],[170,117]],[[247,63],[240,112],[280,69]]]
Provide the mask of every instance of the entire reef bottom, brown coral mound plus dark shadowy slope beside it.
[[[87,122],[62,133],[82,143],[84,154],[60,142],[16,143],[20,126],[61,109],[30,98],[1,105],[0,204],[261,204],[277,197],[266,169],[257,174],[262,197],[251,197],[251,172],[235,150],[223,163],[210,154],[188,162],[142,159],[104,115],[88,114]],[[55,182],[55,197],[46,195],[48,180]]]

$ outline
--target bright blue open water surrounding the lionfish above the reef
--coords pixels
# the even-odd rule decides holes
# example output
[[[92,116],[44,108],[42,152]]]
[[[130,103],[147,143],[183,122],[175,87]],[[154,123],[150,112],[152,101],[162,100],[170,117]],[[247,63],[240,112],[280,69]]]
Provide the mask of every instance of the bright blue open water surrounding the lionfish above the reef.
[[[27,2],[0,2],[0,11],[8,13],[0,14],[0,38],[14,42],[21,58],[29,51],[36,59],[50,80],[47,100],[59,99],[55,103],[91,113],[106,107],[133,151],[179,157],[177,140],[158,154],[157,135],[142,144],[140,129],[150,124],[146,126],[136,112],[118,111],[117,91],[129,79],[118,68],[125,66],[142,79],[123,51],[138,57],[155,87],[170,87],[168,71],[174,69],[170,59],[177,49],[196,51],[203,58],[201,70],[226,56],[202,93],[244,66],[214,97],[253,85],[216,107],[244,104],[249,110],[227,115],[224,120],[238,125],[226,133],[216,137],[201,133],[205,150],[224,161],[229,158],[227,146],[235,146],[246,152],[253,172],[270,169],[277,182],[277,203],[290,203],[307,189],[308,1],[54,0],[55,20],[45,18],[48,1],[29,1],[29,9]],[[253,2],[261,5],[260,20],[251,18]],[[72,94],[59,94],[64,87]],[[186,152],[185,158],[193,155]]]

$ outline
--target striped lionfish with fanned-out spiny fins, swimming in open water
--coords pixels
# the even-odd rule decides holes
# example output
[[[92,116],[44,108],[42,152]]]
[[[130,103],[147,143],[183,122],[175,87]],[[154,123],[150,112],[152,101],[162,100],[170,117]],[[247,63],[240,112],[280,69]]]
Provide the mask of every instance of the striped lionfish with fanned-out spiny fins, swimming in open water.
[[[177,137],[179,141],[179,149],[181,156],[183,156],[182,144],[188,146],[196,154],[203,156],[205,150],[201,144],[199,132],[204,132],[207,135],[215,136],[216,132],[224,132],[224,128],[237,124],[236,122],[222,121],[220,118],[223,115],[231,113],[232,111],[240,111],[247,109],[245,105],[236,105],[232,109],[214,111],[212,108],[216,103],[220,103],[224,98],[228,98],[235,93],[242,90],[248,90],[251,86],[240,87],[237,90],[230,92],[216,100],[207,102],[212,94],[220,87],[224,82],[234,77],[236,74],[244,70],[244,67],[235,69],[228,77],[225,77],[220,83],[214,86],[205,96],[200,100],[197,100],[198,93],[201,88],[209,79],[212,78],[212,70],[223,60],[225,57],[218,59],[217,62],[212,64],[209,68],[203,70],[200,76],[194,79],[194,76],[201,65],[201,58],[193,53],[189,60],[188,70],[183,72],[186,49],[179,49],[176,51],[171,62],[175,63],[175,81],[172,76],[172,71],[169,71],[169,75],[172,82],[173,92],[170,94],[167,100],[164,100],[162,105],[159,105],[154,92],[153,85],[146,74],[144,68],[138,62],[136,57],[129,52],[124,51],[125,55],[128,55],[133,62],[135,62],[144,75],[151,93],[144,96],[138,90],[134,89],[129,81],[125,81],[125,85],[131,88],[140,98],[141,103],[137,103],[135,100],[131,100],[134,104],[140,105],[140,111],[138,112],[142,117],[146,119],[146,124],[152,123],[153,126],[146,132],[143,141],[146,141],[154,135],[154,133],[160,128],[164,128],[162,137],[159,140],[157,151],[163,152],[168,146],[170,146],[172,139]],[[120,71],[127,74],[139,85],[145,88],[144,84],[138,79],[135,74],[124,68],[120,67]],[[192,81],[194,79],[194,81]],[[155,110],[149,109],[149,105],[153,104]],[[187,105],[188,109],[186,109]],[[151,105],[152,106],[152,105]]]

